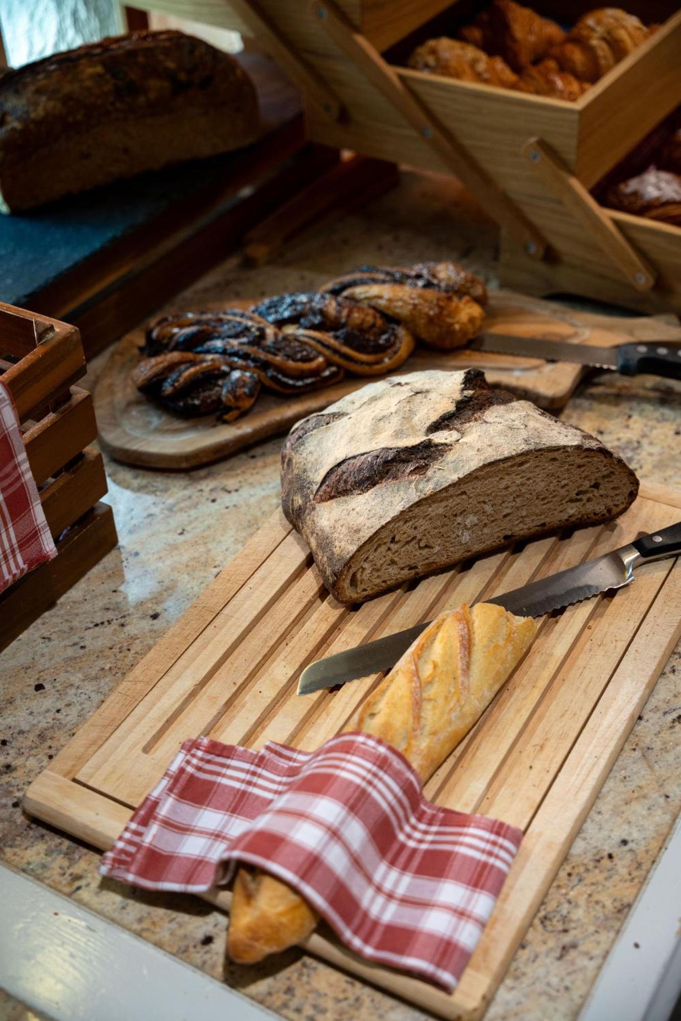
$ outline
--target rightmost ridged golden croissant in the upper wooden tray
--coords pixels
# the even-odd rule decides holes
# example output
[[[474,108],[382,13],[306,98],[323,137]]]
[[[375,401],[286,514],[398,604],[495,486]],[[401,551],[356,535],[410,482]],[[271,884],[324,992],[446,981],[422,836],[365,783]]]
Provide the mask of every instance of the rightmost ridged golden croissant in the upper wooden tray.
[[[635,14],[601,7],[584,14],[550,55],[581,82],[597,82],[649,35]]]

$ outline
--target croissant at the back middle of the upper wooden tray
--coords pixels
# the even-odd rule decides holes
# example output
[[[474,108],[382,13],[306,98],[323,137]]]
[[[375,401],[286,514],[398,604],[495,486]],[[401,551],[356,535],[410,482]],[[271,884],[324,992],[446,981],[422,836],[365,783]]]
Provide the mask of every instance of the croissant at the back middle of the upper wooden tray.
[[[487,53],[503,57],[520,74],[561,43],[565,33],[555,21],[514,0],[494,0],[471,26],[461,29],[459,36]]]

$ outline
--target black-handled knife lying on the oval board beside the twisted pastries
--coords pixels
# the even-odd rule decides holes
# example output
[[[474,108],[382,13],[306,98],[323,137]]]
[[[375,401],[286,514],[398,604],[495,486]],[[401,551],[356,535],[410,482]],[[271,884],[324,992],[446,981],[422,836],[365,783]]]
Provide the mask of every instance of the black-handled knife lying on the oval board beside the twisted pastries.
[[[506,333],[481,333],[468,344],[468,350],[517,354],[547,361],[577,361],[595,369],[614,369],[623,376],[650,373],[681,380],[681,343],[668,340],[636,341],[612,347],[576,344],[569,340],[543,337],[517,337]]]

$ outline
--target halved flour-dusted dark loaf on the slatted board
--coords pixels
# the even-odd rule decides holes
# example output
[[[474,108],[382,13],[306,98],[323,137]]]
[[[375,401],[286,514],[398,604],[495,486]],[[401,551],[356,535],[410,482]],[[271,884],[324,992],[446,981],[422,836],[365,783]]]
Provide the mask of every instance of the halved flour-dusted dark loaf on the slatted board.
[[[363,602],[414,578],[566,527],[617,518],[622,458],[480,370],[392,377],[299,422],[282,504],[329,591]]]

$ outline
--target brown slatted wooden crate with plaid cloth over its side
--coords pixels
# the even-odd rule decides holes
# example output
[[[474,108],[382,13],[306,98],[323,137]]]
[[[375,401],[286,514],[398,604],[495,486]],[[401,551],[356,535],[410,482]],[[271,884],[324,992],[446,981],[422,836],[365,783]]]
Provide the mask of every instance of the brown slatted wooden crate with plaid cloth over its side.
[[[117,543],[78,330],[0,303],[0,373],[21,423],[29,465],[57,555],[0,595],[0,650]]]

